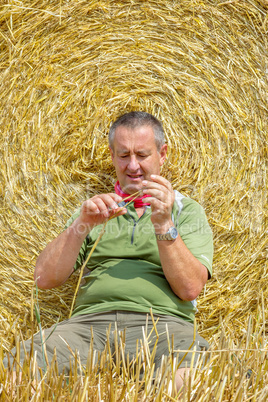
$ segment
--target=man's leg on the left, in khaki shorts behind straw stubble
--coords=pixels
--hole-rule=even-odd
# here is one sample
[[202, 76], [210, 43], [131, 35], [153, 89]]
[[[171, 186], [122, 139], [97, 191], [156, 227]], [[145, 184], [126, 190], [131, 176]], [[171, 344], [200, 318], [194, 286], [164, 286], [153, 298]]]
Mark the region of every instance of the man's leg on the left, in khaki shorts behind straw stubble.
[[[21, 344], [20, 367], [23, 366], [26, 357], [24, 349], [27, 354], [30, 354], [31, 348], [38, 367], [43, 371], [46, 369], [46, 360], [48, 364], [51, 364], [54, 351], [56, 352], [59, 372], [63, 370], [66, 373], [69, 372], [70, 358], [74, 361], [76, 352], [79, 354], [81, 365], [86, 365], [90, 345], [92, 350], [96, 352], [102, 352], [106, 345], [107, 331], [111, 320], [107, 320], [105, 314], [79, 315], [46, 329], [43, 331], [43, 345], [40, 333], [35, 334], [33, 340], [28, 339], [23, 342], [23, 345]], [[13, 348], [9, 354], [9, 359], [5, 357], [3, 361], [4, 366], [8, 367], [8, 360], [10, 360], [14, 371], [16, 371], [17, 358], [14, 358], [16, 352], [16, 348]]]

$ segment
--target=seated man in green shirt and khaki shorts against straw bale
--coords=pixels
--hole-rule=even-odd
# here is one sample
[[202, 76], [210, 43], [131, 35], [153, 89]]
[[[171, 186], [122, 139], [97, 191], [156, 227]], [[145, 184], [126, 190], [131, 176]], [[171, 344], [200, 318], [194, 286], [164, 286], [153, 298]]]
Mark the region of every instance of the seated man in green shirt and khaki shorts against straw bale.
[[[69, 364], [69, 348], [78, 350], [86, 363], [91, 330], [93, 348], [102, 351], [107, 329], [112, 325], [113, 333], [115, 322], [119, 331], [125, 330], [126, 354], [134, 356], [142, 328], [153, 327], [150, 311], [160, 334], [156, 367], [169, 354], [166, 328], [174, 349], [188, 350], [194, 339], [194, 301], [211, 275], [212, 233], [202, 208], [160, 175], [167, 154], [161, 123], [145, 112], [127, 113], [112, 125], [109, 145], [118, 179], [115, 193], [86, 200], [36, 262], [38, 287], [62, 285], [82, 266], [108, 220], [87, 263], [91, 273], [84, 278], [72, 318], [46, 342], [51, 359], [56, 347], [60, 369]], [[123, 201], [137, 192], [134, 202]], [[198, 351], [208, 344], [196, 335], [195, 346]], [[191, 357], [188, 353], [177, 370], [178, 389]]]

